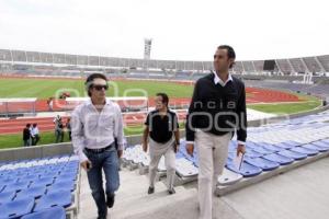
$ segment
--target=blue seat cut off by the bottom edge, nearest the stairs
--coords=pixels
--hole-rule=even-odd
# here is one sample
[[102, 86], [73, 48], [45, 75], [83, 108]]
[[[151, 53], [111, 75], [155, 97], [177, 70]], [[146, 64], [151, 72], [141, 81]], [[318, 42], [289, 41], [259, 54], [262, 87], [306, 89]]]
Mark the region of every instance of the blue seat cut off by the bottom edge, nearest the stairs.
[[65, 209], [56, 206], [23, 216], [21, 219], [66, 219]]

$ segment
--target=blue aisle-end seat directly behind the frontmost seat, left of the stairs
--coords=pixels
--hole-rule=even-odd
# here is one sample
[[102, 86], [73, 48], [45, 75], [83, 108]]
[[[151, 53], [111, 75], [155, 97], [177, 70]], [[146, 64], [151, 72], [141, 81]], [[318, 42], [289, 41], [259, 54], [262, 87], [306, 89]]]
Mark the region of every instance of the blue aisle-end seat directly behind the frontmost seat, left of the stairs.
[[54, 206], [61, 206], [64, 208], [71, 205], [72, 196], [71, 193], [68, 191], [56, 191], [56, 192], [48, 192], [46, 195], [42, 196], [35, 208], [34, 211], [41, 211], [46, 208], [50, 208]]

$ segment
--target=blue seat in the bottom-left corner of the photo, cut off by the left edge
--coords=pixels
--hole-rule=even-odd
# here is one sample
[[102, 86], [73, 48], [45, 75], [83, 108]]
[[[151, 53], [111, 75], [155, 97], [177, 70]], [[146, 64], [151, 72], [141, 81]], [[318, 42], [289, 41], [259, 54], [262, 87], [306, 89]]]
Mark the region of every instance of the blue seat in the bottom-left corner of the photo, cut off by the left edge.
[[32, 211], [34, 198], [21, 198], [0, 206], [0, 219], [20, 218]]

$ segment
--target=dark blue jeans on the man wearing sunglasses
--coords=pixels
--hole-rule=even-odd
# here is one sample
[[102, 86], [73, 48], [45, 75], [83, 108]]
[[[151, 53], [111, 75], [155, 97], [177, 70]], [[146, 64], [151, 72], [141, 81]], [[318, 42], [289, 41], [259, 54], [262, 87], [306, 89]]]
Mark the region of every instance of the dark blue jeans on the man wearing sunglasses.
[[115, 147], [105, 150], [102, 153], [93, 153], [84, 150], [86, 155], [91, 161], [91, 170], [87, 172], [89, 186], [92, 197], [98, 206], [99, 217], [106, 217], [107, 206], [103, 188], [102, 170], [105, 173], [106, 195], [114, 195], [118, 189], [118, 158]]

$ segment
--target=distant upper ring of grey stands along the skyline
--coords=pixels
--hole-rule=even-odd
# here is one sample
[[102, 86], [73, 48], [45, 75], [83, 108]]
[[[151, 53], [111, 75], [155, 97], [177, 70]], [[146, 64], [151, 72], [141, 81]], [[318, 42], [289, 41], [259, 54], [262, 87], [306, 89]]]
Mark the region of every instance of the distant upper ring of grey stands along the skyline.
[[[213, 68], [212, 61], [144, 60], [132, 58], [112, 58], [70, 54], [50, 54], [39, 51], [0, 49], [0, 60], [26, 64], [55, 64], [89, 67], [114, 67], [126, 69], [157, 69], [177, 71], [206, 71]], [[283, 74], [294, 72], [329, 72], [329, 56], [302, 57], [275, 60], [277, 70]], [[237, 61], [232, 71], [254, 73], [263, 70], [264, 60]]]

